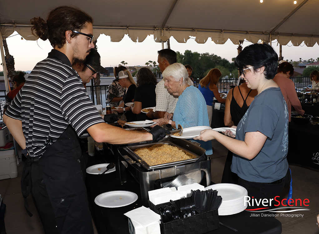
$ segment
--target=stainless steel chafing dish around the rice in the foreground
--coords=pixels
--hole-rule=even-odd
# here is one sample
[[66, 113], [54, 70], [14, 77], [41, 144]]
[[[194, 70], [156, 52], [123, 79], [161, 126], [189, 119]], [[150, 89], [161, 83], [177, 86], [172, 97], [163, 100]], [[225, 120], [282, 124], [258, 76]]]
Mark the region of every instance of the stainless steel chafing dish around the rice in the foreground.
[[[137, 148], [151, 147], [154, 144], [176, 146], [191, 159], [150, 166], [134, 153]], [[127, 171], [132, 174], [140, 184], [144, 206], [148, 206], [148, 191], [169, 185], [179, 175], [188, 177], [190, 180], [187, 180], [187, 183], [201, 183], [202, 181], [205, 182], [205, 185], [211, 183], [211, 159], [205, 154], [205, 149], [189, 140], [169, 137], [164, 142], [126, 146], [119, 148], [118, 151], [123, 157], [122, 164], [125, 165], [120, 167], [121, 180], [126, 178]]]

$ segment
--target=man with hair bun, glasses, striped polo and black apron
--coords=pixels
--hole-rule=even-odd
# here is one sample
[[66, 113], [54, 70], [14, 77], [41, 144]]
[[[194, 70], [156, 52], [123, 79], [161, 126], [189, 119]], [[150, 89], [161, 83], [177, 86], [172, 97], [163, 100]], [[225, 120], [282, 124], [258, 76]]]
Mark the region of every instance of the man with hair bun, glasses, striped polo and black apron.
[[47, 20], [31, 20], [33, 33], [54, 49], [37, 63], [3, 117], [27, 157], [21, 181], [25, 206], [31, 193], [46, 234], [93, 234], [79, 138], [124, 144], [165, 136], [160, 127], [125, 131], [99, 115], [71, 66], [94, 47], [92, 23], [91, 16], [71, 6], [57, 7]]

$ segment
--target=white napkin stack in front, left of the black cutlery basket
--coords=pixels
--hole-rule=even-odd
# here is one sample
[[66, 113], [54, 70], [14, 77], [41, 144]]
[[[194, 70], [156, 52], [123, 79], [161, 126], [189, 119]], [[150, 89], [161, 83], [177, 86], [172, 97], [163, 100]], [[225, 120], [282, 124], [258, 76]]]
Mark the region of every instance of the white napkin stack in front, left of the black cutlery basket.
[[160, 234], [160, 215], [144, 206], [133, 209], [124, 214], [129, 217], [134, 228], [130, 227], [130, 233], [135, 234]]

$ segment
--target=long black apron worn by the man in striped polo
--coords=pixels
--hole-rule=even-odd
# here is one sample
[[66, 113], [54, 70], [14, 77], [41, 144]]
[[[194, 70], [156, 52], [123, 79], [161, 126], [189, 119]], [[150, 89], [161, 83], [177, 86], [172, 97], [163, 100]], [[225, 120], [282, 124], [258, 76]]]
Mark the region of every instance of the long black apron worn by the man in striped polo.
[[93, 233], [80, 159], [79, 138], [69, 125], [40, 159], [28, 159], [25, 164], [24, 172], [31, 172], [31, 195], [47, 234]]

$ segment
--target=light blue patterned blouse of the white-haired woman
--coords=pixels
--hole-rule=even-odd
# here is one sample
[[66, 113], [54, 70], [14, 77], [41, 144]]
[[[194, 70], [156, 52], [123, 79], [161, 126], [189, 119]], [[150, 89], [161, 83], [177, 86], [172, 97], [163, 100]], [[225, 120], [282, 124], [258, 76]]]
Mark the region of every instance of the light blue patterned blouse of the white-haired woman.
[[[187, 87], [176, 103], [173, 121], [183, 128], [209, 126], [207, 106], [203, 94], [194, 86]], [[213, 153], [211, 141], [197, 140], [206, 150], [206, 155]]]

